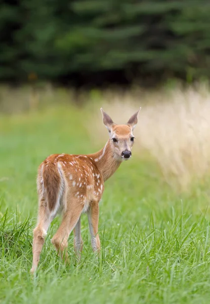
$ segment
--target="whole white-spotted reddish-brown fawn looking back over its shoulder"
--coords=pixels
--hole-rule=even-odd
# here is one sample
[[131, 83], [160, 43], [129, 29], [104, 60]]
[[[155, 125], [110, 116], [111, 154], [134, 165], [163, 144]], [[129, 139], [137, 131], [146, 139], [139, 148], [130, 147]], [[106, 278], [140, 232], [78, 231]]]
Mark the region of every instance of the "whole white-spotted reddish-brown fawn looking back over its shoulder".
[[104, 182], [123, 160], [131, 158], [133, 130], [139, 113], [136, 112], [126, 125], [116, 125], [102, 108], [101, 111], [104, 125], [109, 131], [109, 140], [104, 148], [89, 155], [53, 154], [38, 168], [38, 221], [33, 230], [31, 273], [37, 269], [48, 227], [59, 211], [63, 214], [62, 222], [51, 242], [62, 258], [67, 260], [67, 241], [72, 230], [74, 250], [80, 257], [83, 243], [80, 229], [82, 212], [88, 213], [93, 251], [100, 251], [99, 201]]

